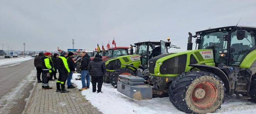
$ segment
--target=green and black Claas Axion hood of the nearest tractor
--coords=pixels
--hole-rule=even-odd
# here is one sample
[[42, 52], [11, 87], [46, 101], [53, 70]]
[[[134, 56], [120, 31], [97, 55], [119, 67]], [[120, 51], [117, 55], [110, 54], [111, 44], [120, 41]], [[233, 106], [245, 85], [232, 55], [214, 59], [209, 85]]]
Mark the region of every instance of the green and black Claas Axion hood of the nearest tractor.
[[200, 49], [158, 55], [148, 61], [148, 70], [152, 76], [175, 77], [189, 71], [190, 64], [215, 66], [213, 51]]

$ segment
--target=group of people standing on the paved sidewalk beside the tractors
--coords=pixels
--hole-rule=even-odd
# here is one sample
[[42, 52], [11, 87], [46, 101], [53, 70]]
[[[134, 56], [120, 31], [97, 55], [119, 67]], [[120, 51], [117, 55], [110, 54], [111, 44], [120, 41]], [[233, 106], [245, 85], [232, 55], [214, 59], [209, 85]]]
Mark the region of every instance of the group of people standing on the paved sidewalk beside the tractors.
[[[76, 73], [76, 61], [73, 59], [72, 52], [62, 51], [61, 54], [52, 55], [50, 52], [39, 53], [38, 57], [34, 59], [34, 65], [37, 70], [37, 82], [42, 83], [43, 89], [52, 89], [49, 86], [49, 80], [57, 80], [56, 92], [67, 93], [65, 89], [65, 83], [67, 81], [67, 88], [75, 88], [73, 83], [71, 83], [73, 73]], [[101, 59], [101, 55], [95, 55], [93, 60], [86, 52], [80, 53], [82, 60], [80, 63], [81, 70], [81, 81], [82, 88], [79, 91], [83, 91], [89, 88], [90, 82], [93, 85], [93, 92], [96, 92], [96, 85], [98, 83], [97, 92], [100, 93], [103, 77], [106, 74], [105, 62]], [[57, 70], [59, 72], [59, 77], [56, 77]], [[42, 74], [42, 80], [40, 76]], [[90, 80], [91, 76], [91, 80]], [[54, 79], [53, 79], [54, 78]]]

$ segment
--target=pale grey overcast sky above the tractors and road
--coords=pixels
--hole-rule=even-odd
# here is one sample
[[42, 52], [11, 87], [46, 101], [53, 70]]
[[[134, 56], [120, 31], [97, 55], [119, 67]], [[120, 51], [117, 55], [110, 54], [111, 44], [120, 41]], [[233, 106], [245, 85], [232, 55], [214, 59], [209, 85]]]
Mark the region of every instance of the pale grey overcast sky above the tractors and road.
[[256, 26], [256, 0], [0, 0], [0, 43], [56, 51], [72, 49], [75, 39], [75, 48], [93, 50], [113, 37], [117, 46], [170, 37], [186, 50], [188, 32], [241, 17], [239, 25]]

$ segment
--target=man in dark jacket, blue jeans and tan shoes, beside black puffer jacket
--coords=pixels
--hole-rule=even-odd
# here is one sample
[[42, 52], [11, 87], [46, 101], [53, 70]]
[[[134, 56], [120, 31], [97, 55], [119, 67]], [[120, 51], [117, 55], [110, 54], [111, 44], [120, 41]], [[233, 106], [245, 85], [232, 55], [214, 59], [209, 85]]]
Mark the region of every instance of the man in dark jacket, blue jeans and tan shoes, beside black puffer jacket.
[[[81, 52], [81, 57], [83, 57], [80, 63], [82, 88], [79, 89], [79, 91], [86, 90], [90, 86], [90, 75], [88, 72], [88, 64], [91, 61], [91, 59], [86, 52]], [[86, 78], [86, 82], [85, 82], [85, 78]]]

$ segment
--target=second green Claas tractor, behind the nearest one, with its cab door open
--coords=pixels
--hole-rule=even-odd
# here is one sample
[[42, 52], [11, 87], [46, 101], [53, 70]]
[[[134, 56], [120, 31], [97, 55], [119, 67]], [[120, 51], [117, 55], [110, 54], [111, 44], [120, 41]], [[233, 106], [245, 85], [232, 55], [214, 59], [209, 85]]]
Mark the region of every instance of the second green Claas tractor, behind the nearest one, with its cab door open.
[[[137, 71], [142, 72], [141, 77], [147, 79], [148, 73], [148, 60], [161, 54], [166, 54], [170, 47], [180, 48], [171, 45], [169, 42], [138, 42], [135, 46], [131, 45], [130, 55], [114, 57], [106, 60], [106, 76], [104, 77], [104, 83], [111, 83], [115, 88], [117, 87], [118, 75], [131, 74], [136, 75]], [[135, 54], [133, 54], [133, 47], [135, 47]], [[147, 75], [148, 74], [148, 75]]]

